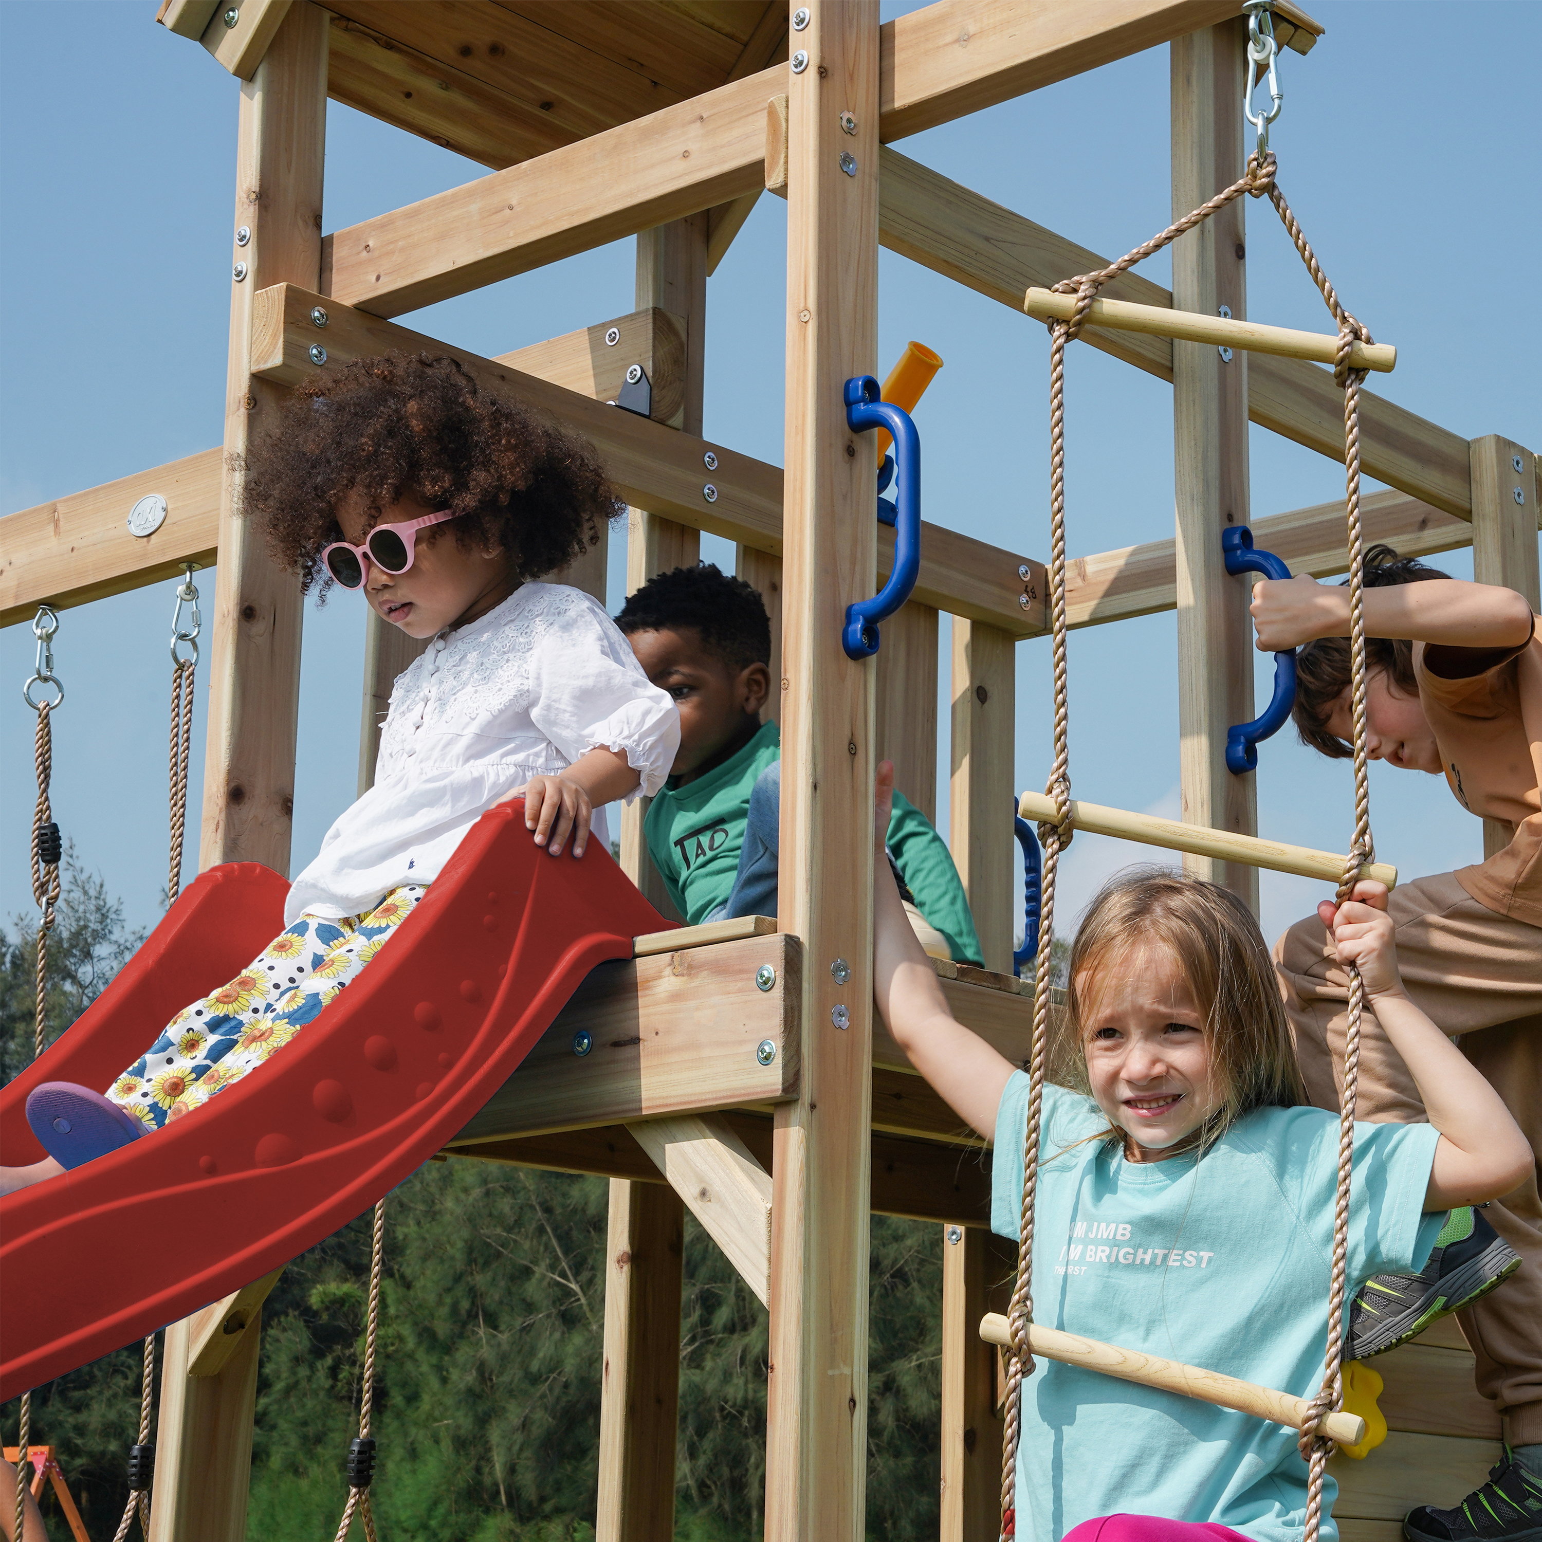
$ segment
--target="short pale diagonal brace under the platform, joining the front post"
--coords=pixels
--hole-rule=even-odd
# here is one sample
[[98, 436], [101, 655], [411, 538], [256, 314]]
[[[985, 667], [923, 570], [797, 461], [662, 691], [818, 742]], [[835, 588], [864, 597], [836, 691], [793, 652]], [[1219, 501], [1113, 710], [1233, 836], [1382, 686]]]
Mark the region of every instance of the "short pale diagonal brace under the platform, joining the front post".
[[[768, 1305], [771, 1175], [732, 1126], [717, 1115], [682, 1115], [628, 1129], [760, 1305]], [[674, 1468], [669, 1471], [672, 1477]]]

